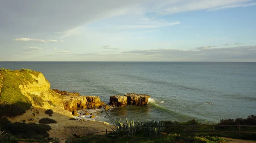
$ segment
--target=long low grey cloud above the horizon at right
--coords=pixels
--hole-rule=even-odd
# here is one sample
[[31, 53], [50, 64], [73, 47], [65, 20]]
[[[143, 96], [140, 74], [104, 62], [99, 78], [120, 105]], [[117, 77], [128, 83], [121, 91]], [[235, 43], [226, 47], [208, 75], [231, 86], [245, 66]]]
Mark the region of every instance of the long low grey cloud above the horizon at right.
[[252, 46], [237, 46], [231, 48], [212, 48], [202, 46], [193, 48], [193, 50], [178, 50], [178, 49], [151, 49], [151, 50], [130, 50], [122, 53], [141, 55], [141, 56], [158, 56], [166, 59], [199, 59], [210, 61], [223, 61], [223, 60], [251, 60], [255, 61], [256, 45]]

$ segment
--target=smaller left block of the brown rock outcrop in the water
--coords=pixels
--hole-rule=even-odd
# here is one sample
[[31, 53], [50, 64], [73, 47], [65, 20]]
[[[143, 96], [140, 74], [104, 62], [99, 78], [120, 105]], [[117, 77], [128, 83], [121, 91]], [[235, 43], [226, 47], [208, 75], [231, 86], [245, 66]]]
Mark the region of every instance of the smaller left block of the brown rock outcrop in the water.
[[124, 95], [110, 96], [109, 103], [112, 107], [124, 107], [127, 105], [127, 97]]

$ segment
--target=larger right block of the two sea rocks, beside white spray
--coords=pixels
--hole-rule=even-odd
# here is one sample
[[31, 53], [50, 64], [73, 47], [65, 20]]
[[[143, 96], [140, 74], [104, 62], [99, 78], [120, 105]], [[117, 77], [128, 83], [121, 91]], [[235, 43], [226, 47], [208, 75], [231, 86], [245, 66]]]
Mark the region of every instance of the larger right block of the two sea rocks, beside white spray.
[[145, 105], [148, 104], [148, 98], [150, 98], [150, 95], [136, 93], [127, 93], [125, 96], [128, 105]]

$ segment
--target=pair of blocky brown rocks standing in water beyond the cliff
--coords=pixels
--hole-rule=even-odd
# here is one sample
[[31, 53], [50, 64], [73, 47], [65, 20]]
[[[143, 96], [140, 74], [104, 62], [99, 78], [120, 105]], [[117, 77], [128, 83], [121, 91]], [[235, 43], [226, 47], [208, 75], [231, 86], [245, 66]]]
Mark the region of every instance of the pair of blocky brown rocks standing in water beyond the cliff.
[[112, 107], [123, 107], [125, 105], [145, 105], [148, 104], [150, 95], [127, 93], [125, 95], [112, 95], [109, 102]]

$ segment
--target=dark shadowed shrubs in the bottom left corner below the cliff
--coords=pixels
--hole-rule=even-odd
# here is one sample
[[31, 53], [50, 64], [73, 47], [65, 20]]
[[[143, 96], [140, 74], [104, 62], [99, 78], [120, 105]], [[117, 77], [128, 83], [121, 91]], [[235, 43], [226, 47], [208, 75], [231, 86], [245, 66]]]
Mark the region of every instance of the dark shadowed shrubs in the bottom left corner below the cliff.
[[42, 142], [46, 141], [45, 138], [49, 137], [47, 131], [51, 130], [51, 127], [46, 124], [11, 123], [7, 118], [0, 118], [0, 127], [2, 131], [8, 131], [19, 139], [33, 139]]

